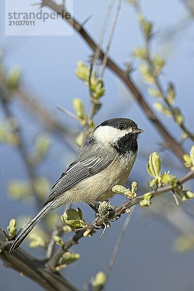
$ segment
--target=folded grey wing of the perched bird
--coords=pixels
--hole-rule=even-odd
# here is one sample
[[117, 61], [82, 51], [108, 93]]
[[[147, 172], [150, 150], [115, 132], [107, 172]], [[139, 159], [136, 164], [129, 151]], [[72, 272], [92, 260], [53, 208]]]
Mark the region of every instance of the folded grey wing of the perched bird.
[[84, 161], [73, 162], [61, 175], [61, 177], [52, 186], [52, 193], [47, 198], [44, 206], [55, 199], [60, 194], [63, 194], [66, 190], [73, 187], [81, 180], [91, 177], [105, 168], [107, 168], [113, 162], [114, 156], [107, 159], [107, 157], [91, 157]]

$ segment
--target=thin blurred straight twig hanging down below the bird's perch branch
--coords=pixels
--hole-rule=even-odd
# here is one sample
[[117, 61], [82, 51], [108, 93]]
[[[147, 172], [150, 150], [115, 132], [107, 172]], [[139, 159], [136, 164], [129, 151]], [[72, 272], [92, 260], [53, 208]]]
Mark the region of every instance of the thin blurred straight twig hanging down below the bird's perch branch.
[[108, 267], [108, 272], [106, 274], [106, 283], [113, 271], [113, 266], [114, 266], [114, 263], [115, 263], [115, 260], [116, 260], [116, 256], [117, 256], [117, 253], [119, 251], [119, 248], [121, 246], [121, 243], [123, 241], [123, 238], [124, 238], [124, 235], [125, 235], [125, 232], [129, 226], [129, 222], [131, 220], [131, 215], [133, 214], [133, 211], [135, 210], [135, 206], [131, 209], [130, 213], [127, 215], [126, 219], [125, 219], [125, 222], [123, 224], [123, 227], [121, 229], [121, 232], [118, 236], [118, 239], [115, 243], [115, 246], [114, 246], [114, 249], [113, 249], [113, 253], [112, 253], [112, 256], [111, 256], [111, 259], [110, 259], [110, 262], [109, 262], [109, 267]]

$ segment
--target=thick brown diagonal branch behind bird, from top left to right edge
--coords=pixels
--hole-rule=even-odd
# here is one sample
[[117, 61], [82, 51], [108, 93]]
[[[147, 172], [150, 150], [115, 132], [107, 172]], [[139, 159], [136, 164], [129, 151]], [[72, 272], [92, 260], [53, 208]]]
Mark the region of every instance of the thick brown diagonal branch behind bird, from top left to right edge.
[[[63, 5], [57, 5], [54, 1], [52, 0], [42, 0], [42, 7], [43, 6], [48, 6], [55, 12], [61, 13], [62, 9], [64, 9]], [[80, 33], [82, 38], [85, 40], [85, 42], [90, 46], [90, 48], [93, 51], [96, 51], [97, 49], [97, 44], [94, 42], [92, 37], [89, 35], [88, 32], [86, 32], [83, 27], [80, 25], [80, 23], [74, 19], [66, 19], [63, 18], [63, 20], [67, 21], [70, 25], [73, 26], [73, 28]], [[99, 58], [102, 60], [104, 57], [104, 53], [102, 50], [99, 51]], [[170, 133], [165, 129], [165, 127], [162, 125], [162, 123], [159, 121], [157, 116], [152, 112], [151, 108], [148, 106], [146, 103], [145, 99], [135, 86], [135, 84], [131, 81], [129, 77], [129, 73], [122, 70], [118, 65], [116, 65], [110, 58], [107, 58], [107, 64], [106, 64], [116, 75], [119, 77], [127, 86], [129, 91], [132, 93], [134, 99], [139, 103], [140, 107], [143, 109], [143, 111], [146, 113], [147, 118], [154, 124], [156, 129], [159, 131], [159, 133], [162, 135], [164, 138], [167, 146], [171, 148], [172, 151], [176, 154], [178, 159], [183, 162], [183, 149], [182, 147], [176, 142], [176, 140], [170, 135]]]

